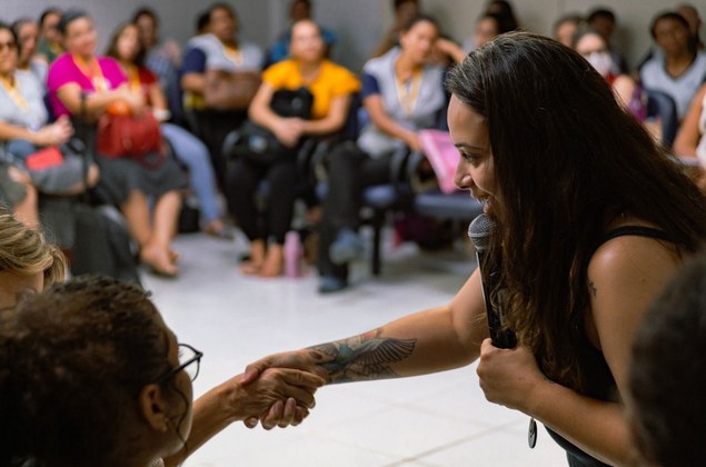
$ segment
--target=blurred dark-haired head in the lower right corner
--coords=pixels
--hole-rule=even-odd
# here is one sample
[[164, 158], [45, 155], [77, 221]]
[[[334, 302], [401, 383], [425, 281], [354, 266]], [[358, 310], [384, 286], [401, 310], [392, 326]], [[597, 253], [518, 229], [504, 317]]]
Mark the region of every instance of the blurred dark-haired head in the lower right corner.
[[704, 466], [706, 251], [646, 312], [633, 344], [628, 414], [639, 466]]

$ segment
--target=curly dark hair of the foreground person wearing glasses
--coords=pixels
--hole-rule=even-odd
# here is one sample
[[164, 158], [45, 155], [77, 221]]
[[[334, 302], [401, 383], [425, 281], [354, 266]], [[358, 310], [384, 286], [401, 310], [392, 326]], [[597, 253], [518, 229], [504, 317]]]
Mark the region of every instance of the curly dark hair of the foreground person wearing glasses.
[[0, 465], [106, 465], [141, 388], [171, 367], [168, 339], [149, 294], [109, 278], [79, 277], [3, 311]]

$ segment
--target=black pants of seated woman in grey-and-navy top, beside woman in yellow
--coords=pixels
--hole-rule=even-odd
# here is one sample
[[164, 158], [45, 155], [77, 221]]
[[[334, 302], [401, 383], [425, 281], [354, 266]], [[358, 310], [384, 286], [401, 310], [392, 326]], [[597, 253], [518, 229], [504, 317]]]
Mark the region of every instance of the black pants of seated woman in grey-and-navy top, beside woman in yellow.
[[338, 146], [329, 156], [328, 190], [324, 199], [318, 268], [321, 276], [348, 278], [348, 265], [335, 265], [328, 250], [344, 228], [360, 225], [362, 191], [390, 181], [390, 157], [372, 159], [354, 143]]

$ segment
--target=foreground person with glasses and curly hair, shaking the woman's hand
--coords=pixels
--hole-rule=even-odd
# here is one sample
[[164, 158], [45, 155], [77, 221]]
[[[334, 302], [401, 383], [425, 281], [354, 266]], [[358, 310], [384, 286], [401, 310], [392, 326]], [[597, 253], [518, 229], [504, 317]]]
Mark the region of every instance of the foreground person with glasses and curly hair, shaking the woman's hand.
[[0, 465], [179, 465], [275, 403], [280, 426], [297, 425], [324, 382], [277, 370], [243, 387], [236, 376], [192, 403], [202, 356], [149, 292], [115, 279], [74, 278], [0, 311]]

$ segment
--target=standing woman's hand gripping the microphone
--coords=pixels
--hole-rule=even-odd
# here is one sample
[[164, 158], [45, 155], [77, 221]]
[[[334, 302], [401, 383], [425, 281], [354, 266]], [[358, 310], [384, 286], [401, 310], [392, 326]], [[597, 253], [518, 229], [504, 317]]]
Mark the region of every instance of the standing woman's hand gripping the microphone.
[[527, 415], [531, 415], [531, 395], [547, 381], [527, 347], [499, 349], [490, 339], [485, 339], [480, 346], [476, 372], [486, 399]]

